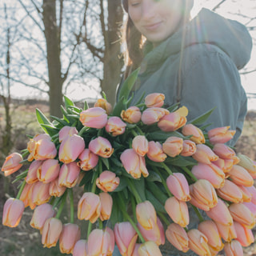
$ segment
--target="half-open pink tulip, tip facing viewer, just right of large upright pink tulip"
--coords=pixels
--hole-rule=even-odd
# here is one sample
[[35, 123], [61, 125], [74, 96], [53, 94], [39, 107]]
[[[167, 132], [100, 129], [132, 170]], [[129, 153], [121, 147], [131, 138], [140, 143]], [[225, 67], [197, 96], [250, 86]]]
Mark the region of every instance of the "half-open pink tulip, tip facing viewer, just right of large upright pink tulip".
[[114, 152], [110, 142], [101, 136], [90, 141], [89, 150], [102, 158], [110, 158], [111, 154]]

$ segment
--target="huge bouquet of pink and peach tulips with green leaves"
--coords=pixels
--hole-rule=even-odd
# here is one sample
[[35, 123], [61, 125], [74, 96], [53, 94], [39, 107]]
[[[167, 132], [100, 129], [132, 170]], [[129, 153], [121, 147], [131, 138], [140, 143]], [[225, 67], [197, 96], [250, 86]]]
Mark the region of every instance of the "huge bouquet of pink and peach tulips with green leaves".
[[[122, 255], [158, 256], [167, 239], [182, 252], [242, 255], [254, 242], [256, 163], [226, 146], [230, 127], [205, 132], [211, 111], [188, 122], [185, 106], [165, 108], [158, 93], [130, 106], [137, 74], [113, 109], [106, 97], [83, 109], [64, 97], [63, 118], [50, 122], [36, 110], [44, 132], [2, 166], [6, 176], [27, 166], [15, 179], [17, 198], [5, 203], [3, 225], [18, 226], [29, 206], [42, 245], [58, 242], [63, 254], [112, 255], [116, 245]], [[88, 221], [86, 234], [74, 223], [75, 186], [83, 189], [76, 212]], [[191, 211], [198, 216], [192, 229]]]

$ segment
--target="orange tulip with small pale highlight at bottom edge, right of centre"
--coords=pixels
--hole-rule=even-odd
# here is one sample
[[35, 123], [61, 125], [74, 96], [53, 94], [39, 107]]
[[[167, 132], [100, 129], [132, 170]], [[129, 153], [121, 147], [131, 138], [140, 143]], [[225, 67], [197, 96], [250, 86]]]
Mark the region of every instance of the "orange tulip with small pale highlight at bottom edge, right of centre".
[[208, 239], [206, 235], [202, 234], [199, 230], [189, 230], [187, 232], [189, 237], [189, 247], [198, 255], [210, 256], [210, 248], [207, 244]]

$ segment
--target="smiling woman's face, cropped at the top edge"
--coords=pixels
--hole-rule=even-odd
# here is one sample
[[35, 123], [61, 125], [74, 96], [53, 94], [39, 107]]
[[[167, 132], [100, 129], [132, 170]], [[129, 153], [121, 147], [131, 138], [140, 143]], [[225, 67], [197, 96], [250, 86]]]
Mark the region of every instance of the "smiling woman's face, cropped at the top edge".
[[184, 8], [182, 0], [128, 0], [128, 14], [134, 26], [154, 46], [174, 34]]

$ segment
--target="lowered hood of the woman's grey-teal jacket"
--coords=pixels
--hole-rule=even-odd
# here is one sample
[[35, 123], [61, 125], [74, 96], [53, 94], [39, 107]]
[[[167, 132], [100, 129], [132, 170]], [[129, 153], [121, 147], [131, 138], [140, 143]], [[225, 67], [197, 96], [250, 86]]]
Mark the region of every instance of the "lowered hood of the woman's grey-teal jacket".
[[252, 39], [246, 26], [202, 9], [186, 26], [146, 54], [145, 61], [149, 68], [154, 68], [170, 55], [178, 54], [182, 48], [199, 43], [218, 46], [233, 60], [238, 70], [250, 60]]

